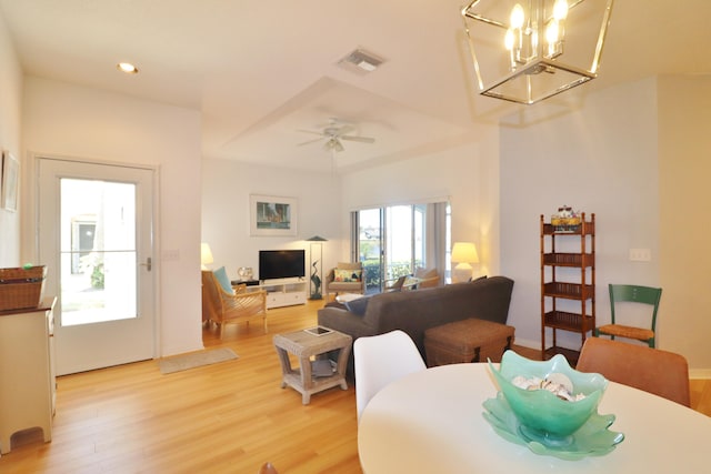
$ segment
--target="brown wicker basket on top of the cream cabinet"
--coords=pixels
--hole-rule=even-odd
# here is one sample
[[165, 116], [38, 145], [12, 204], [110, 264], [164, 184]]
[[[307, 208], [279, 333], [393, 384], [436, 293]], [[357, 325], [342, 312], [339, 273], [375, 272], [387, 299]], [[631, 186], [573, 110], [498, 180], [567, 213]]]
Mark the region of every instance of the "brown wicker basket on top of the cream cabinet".
[[0, 269], [0, 311], [37, 307], [44, 293], [44, 265]]

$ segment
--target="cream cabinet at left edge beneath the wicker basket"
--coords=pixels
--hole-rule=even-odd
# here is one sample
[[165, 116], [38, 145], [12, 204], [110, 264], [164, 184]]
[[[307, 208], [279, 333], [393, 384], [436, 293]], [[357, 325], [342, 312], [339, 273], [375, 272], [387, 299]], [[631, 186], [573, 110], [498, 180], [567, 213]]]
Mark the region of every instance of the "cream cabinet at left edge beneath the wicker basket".
[[56, 403], [53, 360], [54, 299], [30, 310], [0, 312], [0, 452], [10, 452], [10, 437], [41, 428], [52, 440]]

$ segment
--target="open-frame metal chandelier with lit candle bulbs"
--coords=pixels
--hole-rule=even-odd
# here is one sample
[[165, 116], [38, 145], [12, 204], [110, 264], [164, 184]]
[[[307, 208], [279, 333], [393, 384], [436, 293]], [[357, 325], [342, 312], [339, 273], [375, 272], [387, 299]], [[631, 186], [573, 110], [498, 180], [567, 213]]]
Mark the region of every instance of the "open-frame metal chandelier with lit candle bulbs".
[[461, 10], [480, 93], [532, 104], [598, 75], [613, 0], [474, 0]]

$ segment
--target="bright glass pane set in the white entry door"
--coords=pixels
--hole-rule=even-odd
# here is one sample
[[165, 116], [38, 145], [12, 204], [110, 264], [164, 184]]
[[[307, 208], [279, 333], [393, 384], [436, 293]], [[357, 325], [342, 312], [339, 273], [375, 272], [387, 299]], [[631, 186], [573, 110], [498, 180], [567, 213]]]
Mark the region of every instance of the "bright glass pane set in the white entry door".
[[60, 180], [61, 324], [137, 317], [136, 185]]

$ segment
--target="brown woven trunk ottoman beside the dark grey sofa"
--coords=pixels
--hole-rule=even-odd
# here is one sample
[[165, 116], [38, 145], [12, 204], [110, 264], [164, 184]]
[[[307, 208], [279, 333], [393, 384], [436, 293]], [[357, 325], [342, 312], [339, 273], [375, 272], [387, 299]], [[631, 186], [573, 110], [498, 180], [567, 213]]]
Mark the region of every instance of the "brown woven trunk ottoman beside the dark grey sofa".
[[491, 321], [471, 319], [424, 331], [427, 365], [461, 362], [501, 362], [513, 343], [514, 327]]

